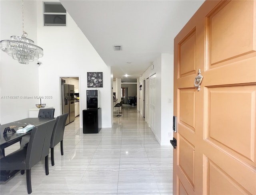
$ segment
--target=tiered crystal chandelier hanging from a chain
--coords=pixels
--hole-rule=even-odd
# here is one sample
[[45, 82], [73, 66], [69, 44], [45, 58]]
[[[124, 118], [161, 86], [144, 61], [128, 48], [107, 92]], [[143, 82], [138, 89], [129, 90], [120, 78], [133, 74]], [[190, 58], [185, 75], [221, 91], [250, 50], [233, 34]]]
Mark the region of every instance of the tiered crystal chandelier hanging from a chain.
[[22, 0], [22, 36], [11, 36], [11, 40], [0, 41], [0, 49], [18, 60], [21, 64], [28, 64], [40, 57], [43, 57], [43, 49], [34, 45], [34, 41], [26, 38], [28, 33], [24, 31], [24, 15]]

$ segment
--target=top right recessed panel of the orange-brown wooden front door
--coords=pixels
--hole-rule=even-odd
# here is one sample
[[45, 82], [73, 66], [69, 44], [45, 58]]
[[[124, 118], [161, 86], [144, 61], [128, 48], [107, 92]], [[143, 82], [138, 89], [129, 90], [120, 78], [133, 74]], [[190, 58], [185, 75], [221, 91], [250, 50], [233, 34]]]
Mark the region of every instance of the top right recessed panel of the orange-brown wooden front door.
[[[255, 1], [223, 1], [207, 16], [210, 65], [255, 52]], [[230, 12], [232, 10], [232, 12]], [[241, 10], [246, 10], [242, 12]]]

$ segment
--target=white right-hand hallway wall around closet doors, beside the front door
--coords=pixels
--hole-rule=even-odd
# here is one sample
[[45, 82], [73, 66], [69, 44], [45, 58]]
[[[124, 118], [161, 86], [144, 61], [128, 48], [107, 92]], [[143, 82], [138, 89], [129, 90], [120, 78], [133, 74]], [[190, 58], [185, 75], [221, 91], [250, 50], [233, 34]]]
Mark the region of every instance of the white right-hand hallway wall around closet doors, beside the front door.
[[[173, 115], [173, 55], [161, 54], [140, 77], [143, 80], [156, 73], [156, 127], [155, 136], [161, 146], [170, 146]], [[143, 85], [142, 85], [143, 86]], [[143, 115], [143, 89], [140, 91], [140, 114]], [[171, 103], [168, 99], [171, 99]]]

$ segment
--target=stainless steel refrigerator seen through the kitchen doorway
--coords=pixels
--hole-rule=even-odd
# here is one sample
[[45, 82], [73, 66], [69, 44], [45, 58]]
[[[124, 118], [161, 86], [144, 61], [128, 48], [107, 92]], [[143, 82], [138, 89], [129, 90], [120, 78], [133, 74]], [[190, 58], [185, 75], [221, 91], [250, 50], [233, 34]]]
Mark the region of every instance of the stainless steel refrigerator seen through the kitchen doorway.
[[74, 85], [62, 83], [62, 114], [69, 113], [66, 124], [75, 120]]

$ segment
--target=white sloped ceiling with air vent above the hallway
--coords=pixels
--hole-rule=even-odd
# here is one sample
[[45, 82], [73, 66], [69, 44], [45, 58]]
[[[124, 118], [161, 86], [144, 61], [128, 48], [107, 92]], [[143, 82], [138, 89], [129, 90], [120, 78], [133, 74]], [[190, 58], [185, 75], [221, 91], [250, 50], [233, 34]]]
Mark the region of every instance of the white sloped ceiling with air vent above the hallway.
[[[138, 78], [173, 40], [203, 0], [60, 0], [114, 78]], [[122, 45], [114, 51], [113, 45]], [[131, 63], [126, 63], [130, 61]]]

